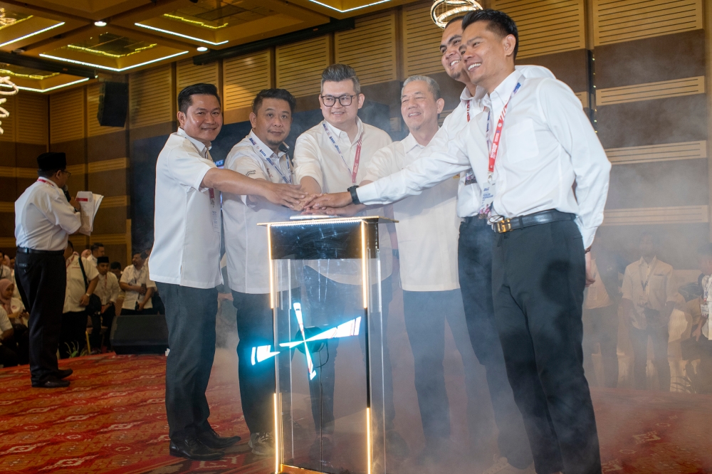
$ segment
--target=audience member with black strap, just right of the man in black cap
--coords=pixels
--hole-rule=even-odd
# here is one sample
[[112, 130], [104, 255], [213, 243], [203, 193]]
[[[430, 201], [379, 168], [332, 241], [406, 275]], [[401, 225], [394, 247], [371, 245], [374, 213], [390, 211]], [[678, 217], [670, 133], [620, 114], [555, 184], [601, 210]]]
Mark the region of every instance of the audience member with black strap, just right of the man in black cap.
[[67, 265], [67, 290], [59, 337], [61, 359], [80, 355], [86, 345], [86, 306], [99, 281], [96, 267], [74, 251], [71, 241], [67, 241], [64, 258]]

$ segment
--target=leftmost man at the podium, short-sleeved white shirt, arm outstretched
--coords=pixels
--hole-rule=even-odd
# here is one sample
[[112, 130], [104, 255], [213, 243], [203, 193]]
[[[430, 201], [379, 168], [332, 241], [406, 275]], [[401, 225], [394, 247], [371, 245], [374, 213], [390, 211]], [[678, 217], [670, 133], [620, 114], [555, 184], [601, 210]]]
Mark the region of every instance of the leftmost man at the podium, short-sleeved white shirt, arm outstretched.
[[220, 192], [262, 196], [295, 206], [305, 194], [295, 186], [250, 179], [219, 169], [211, 142], [222, 127], [217, 88], [194, 84], [178, 95], [179, 129], [156, 162], [155, 239], [150, 279], [166, 307], [170, 352], [166, 362], [169, 452], [215, 460], [239, 436], [221, 438], [208, 422], [205, 398], [215, 354], [220, 273]]

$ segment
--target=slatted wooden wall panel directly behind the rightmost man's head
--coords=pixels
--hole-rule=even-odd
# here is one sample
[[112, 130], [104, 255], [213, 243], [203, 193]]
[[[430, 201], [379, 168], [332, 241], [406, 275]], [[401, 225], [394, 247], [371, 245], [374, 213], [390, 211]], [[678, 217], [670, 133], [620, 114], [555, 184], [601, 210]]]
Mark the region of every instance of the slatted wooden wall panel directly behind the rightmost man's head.
[[584, 0], [494, 0], [517, 22], [518, 58], [586, 47]]

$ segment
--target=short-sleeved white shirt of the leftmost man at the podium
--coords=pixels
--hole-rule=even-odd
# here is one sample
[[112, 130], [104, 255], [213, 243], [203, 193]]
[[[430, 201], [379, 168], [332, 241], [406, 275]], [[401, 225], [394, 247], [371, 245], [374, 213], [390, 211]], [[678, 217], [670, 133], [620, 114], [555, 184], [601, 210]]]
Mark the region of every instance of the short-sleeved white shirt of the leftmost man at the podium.
[[158, 155], [152, 280], [192, 288], [221, 285], [220, 192], [201, 186], [211, 168], [207, 147], [182, 128]]

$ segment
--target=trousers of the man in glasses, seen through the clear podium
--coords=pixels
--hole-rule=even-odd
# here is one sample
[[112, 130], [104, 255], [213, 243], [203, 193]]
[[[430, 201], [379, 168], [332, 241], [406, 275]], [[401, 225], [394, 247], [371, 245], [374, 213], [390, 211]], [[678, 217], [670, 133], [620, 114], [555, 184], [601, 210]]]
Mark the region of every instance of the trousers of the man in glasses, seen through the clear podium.
[[[360, 290], [357, 293], [354, 292], [355, 285], [337, 283], [310, 267], [304, 267], [304, 285], [311, 312], [310, 323], [307, 324], [325, 328], [334, 327], [345, 322], [346, 318], [343, 318], [343, 315], [346, 311], [355, 308], [358, 308], [360, 312], [359, 314], [354, 313], [354, 317], [363, 315], [362, 295]], [[385, 335], [388, 332], [388, 305], [393, 299], [390, 277], [382, 281], [381, 288], [382, 331]], [[359, 331], [362, 351], [365, 350], [364, 327], [365, 320], [362, 318]], [[316, 370], [317, 375], [309, 381], [309, 391], [314, 424], [317, 427], [317, 433], [320, 434], [334, 433], [335, 361], [338, 347], [339, 339], [329, 339], [326, 341], [325, 349], [320, 350], [317, 354], [312, 354], [314, 366], [318, 369]], [[393, 404], [391, 359], [387, 344], [383, 344], [382, 357], [385, 428], [389, 430], [394, 428], [395, 407]]]

